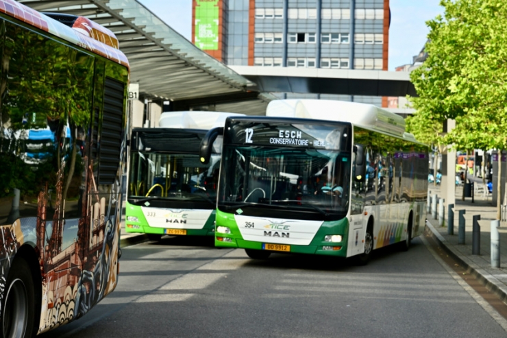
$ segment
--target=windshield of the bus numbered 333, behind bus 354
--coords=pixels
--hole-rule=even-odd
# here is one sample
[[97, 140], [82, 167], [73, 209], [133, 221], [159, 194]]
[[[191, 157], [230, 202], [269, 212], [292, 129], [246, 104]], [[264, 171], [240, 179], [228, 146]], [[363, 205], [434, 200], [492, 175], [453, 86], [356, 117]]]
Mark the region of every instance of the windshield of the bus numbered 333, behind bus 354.
[[[215, 207], [220, 155], [212, 154], [208, 165], [197, 154], [132, 152], [129, 196], [132, 204], [177, 208]], [[178, 205], [175, 205], [178, 204]]]

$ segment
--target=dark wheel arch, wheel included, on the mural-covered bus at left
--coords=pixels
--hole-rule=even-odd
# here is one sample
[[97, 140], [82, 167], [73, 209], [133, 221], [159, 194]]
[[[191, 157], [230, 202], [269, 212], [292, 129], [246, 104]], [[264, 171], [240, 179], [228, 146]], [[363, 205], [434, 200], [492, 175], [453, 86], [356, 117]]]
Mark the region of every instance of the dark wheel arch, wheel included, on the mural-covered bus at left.
[[1, 302], [0, 337], [32, 337], [38, 332], [42, 282], [36, 256], [30, 245], [14, 256]]

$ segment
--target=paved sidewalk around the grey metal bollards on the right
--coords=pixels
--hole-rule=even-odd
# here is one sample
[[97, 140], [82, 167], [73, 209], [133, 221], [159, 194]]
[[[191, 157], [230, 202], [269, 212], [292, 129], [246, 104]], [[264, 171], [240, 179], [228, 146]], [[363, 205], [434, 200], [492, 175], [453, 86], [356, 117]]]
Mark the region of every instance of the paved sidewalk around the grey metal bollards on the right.
[[[441, 196], [440, 186], [430, 184], [430, 195]], [[438, 198], [441, 198], [441, 197]], [[458, 244], [458, 210], [465, 209], [465, 244]], [[507, 302], [507, 223], [500, 222], [500, 267], [491, 267], [491, 221], [497, 219], [497, 208], [491, 204], [491, 194], [484, 197], [483, 193], [475, 193], [474, 202], [471, 197], [462, 201], [462, 186], [456, 186], [456, 204], [454, 206], [454, 234], [447, 234], [447, 208], [445, 208], [445, 224], [438, 224], [428, 213], [426, 226], [447, 252], [454, 256], [470, 274], [476, 276], [488, 289]], [[480, 215], [480, 254], [472, 254], [472, 217]]]

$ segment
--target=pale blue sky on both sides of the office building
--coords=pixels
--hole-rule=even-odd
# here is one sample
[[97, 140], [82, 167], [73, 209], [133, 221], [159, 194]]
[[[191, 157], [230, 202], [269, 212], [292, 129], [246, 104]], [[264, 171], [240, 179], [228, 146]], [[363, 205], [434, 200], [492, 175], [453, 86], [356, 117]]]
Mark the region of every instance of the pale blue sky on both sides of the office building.
[[[162, 21], [191, 40], [192, 0], [138, 0]], [[443, 14], [440, 0], [390, 0], [391, 27], [389, 28], [390, 71], [412, 63], [412, 56], [421, 51], [429, 32], [425, 22]]]

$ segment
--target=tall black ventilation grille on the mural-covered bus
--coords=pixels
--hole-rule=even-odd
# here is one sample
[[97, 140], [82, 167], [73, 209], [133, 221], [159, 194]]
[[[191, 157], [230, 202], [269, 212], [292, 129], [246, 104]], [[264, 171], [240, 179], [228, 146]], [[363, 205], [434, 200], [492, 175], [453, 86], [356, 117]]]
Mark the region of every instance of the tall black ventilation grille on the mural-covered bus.
[[99, 184], [113, 184], [120, 166], [125, 85], [106, 77], [99, 149]]

